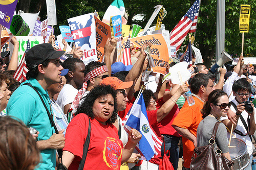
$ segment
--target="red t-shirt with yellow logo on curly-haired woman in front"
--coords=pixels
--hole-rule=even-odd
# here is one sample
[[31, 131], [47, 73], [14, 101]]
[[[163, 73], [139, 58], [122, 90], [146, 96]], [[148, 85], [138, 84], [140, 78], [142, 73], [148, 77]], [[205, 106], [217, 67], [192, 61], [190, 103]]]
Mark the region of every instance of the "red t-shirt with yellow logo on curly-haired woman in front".
[[[91, 138], [83, 169], [120, 169], [123, 143], [114, 125], [102, 125], [91, 119]], [[75, 158], [69, 169], [78, 169], [82, 159], [83, 144], [86, 141], [89, 118], [86, 114], [76, 115], [70, 122], [63, 151], [69, 151]]]

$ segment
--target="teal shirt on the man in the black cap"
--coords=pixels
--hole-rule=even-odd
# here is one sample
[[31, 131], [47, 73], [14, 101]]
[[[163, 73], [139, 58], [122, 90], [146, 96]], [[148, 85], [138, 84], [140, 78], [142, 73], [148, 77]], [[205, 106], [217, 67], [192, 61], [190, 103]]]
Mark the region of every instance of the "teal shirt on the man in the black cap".
[[[44, 90], [36, 79], [30, 78], [24, 83], [30, 83], [42, 96], [50, 111], [50, 98], [48, 92]], [[38, 94], [34, 89], [22, 83], [11, 95], [7, 104], [7, 115], [14, 116], [22, 120], [28, 127], [33, 127], [39, 131], [38, 140], [47, 140], [55, 132], [50, 123], [47, 111], [42, 104]], [[22, 144], [22, 143], [21, 143]], [[41, 162], [36, 169], [55, 169], [55, 150], [47, 149], [40, 151]]]

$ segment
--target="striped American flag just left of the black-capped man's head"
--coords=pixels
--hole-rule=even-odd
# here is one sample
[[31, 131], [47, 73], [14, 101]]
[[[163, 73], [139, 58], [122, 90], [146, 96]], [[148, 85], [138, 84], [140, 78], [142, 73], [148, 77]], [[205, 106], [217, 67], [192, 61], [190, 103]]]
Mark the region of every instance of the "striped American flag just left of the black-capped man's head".
[[27, 65], [26, 65], [26, 61], [25, 61], [25, 56], [27, 54], [27, 52], [29, 51], [30, 49], [30, 43], [29, 43], [29, 40], [28, 40], [28, 43], [27, 43], [27, 49], [22, 57], [22, 61], [20, 61], [20, 64], [17, 68], [17, 70], [15, 71], [14, 75], [13, 75], [13, 79], [17, 80], [18, 82], [22, 83], [22, 82], [25, 82], [27, 79], [26, 79], [26, 74], [28, 72], [28, 68], [27, 68]]

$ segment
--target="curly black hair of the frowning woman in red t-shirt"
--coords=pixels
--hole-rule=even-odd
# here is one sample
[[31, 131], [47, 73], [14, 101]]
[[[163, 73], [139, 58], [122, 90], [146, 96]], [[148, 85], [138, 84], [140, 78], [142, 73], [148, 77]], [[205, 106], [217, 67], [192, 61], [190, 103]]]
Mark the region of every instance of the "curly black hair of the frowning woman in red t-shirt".
[[117, 119], [117, 103], [116, 103], [116, 90], [111, 85], [98, 85], [94, 87], [90, 93], [86, 95], [84, 101], [78, 106], [75, 115], [79, 113], [87, 114], [89, 117], [94, 118], [93, 105], [96, 99], [101, 98], [107, 94], [111, 94], [114, 100], [114, 111], [110, 119], [106, 120], [106, 123], [113, 124]]

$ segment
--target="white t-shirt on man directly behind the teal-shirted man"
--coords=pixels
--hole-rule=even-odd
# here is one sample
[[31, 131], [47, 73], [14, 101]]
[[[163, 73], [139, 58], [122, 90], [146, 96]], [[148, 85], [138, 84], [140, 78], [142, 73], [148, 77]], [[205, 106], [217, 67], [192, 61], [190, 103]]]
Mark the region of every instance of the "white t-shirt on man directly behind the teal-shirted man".
[[60, 106], [60, 108], [64, 112], [64, 106], [67, 104], [70, 104], [74, 101], [76, 94], [78, 93], [78, 90], [74, 88], [70, 84], [65, 84], [61, 91], [59, 92], [58, 98], [57, 98], [57, 104]]

